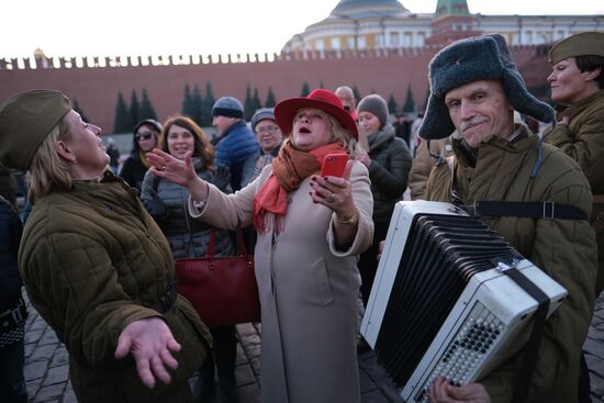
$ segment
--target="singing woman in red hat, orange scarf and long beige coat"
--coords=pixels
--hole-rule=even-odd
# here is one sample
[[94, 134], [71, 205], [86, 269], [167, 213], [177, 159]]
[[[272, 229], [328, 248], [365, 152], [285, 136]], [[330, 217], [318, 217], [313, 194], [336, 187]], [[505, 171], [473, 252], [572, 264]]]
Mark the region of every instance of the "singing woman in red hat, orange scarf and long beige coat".
[[275, 108], [287, 139], [260, 176], [224, 194], [161, 150], [156, 175], [186, 186], [192, 216], [227, 230], [254, 223], [261, 303], [261, 401], [360, 402], [356, 358], [357, 257], [373, 234], [367, 168], [348, 160], [322, 176], [328, 154], [354, 155], [357, 126], [331, 91], [316, 89]]

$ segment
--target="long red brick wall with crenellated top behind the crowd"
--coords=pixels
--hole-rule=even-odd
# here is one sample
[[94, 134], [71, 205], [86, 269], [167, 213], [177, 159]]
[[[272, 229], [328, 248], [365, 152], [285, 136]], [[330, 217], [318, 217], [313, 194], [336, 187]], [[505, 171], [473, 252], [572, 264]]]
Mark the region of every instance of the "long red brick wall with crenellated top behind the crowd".
[[[138, 100], [142, 90], [146, 89], [158, 117], [165, 120], [180, 112], [187, 83], [191, 90], [198, 83], [203, 97], [208, 81], [216, 99], [230, 94], [243, 102], [246, 87], [249, 86], [251, 90], [258, 89], [260, 101], [264, 102], [271, 86], [279, 101], [299, 97], [302, 83], [306, 81], [311, 89], [321, 82], [327, 89], [340, 85], [356, 86], [361, 96], [376, 91], [387, 100], [393, 93], [400, 107], [405, 102], [407, 86], [411, 85], [415, 104], [421, 108], [427, 91], [427, 65], [438, 49], [425, 47], [278, 54], [272, 61], [264, 61], [266, 55], [260, 58], [256, 55], [237, 56], [236, 60], [230, 60], [231, 56], [228, 59], [214, 60], [208, 56], [198, 56], [197, 60], [192, 58], [193, 64], [181, 64], [181, 59], [176, 58], [157, 59], [161, 63], [158, 66], [148, 65], [148, 58], [138, 58], [133, 63], [132, 60], [120, 58], [79, 60], [85, 67], [71, 67], [76, 66], [75, 59], [38, 58], [38, 66], [31, 68], [29, 59], [0, 59], [0, 101], [27, 89], [59, 89], [68, 97], [75, 97], [90, 122], [103, 127], [104, 133], [113, 130], [119, 91], [130, 103], [133, 89]], [[525, 74], [523, 66], [527, 66], [527, 72], [530, 72], [534, 81], [539, 81], [527, 82], [529, 86], [546, 83], [548, 71], [536, 75], [534, 68], [536, 65], [541, 68], [547, 66], [543, 49], [539, 52], [536, 46], [519, 46], [512, 52], [521, 72]], [[43, 64], [48, 66], [44, 68]], [[88, 67], [99, 64], [105, 67]]]

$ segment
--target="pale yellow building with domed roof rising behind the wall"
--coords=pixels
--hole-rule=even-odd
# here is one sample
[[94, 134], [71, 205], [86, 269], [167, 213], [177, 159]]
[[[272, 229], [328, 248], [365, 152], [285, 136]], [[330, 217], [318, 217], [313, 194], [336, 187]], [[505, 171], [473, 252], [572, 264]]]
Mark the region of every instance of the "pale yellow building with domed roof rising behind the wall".
[[583, 31], [604, 31], [604, 15], [483, 15], [470, 13], [466, 0], [438, 0], [434, 13], [414, 13], [396, 0], [340, 0], [283, 52], [443, 46], [481, 33], [500, 33], [511, 46], [541, 45]]

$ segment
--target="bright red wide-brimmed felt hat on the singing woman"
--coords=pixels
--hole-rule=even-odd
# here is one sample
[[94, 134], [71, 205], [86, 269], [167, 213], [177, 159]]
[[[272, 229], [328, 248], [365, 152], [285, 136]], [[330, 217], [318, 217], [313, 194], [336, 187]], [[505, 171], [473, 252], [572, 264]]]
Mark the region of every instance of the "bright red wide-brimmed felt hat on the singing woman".
[[290, 135], [295, 113], [302, 108], [316, 108], [334, 116], [350, 134], [358, 139], [357, 124], [350, 113], [344, 109], [342, 101], [335, 93], [317, 88], [306, 98], [290, 98], [275, 107], [275, 121], [286, 135]]

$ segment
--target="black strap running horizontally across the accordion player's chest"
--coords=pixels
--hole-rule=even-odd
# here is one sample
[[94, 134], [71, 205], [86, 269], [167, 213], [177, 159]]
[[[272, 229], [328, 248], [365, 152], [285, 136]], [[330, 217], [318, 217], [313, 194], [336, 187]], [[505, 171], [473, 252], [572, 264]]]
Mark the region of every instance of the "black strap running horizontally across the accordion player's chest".
[[510, 202], [510, 201], [476, 201], [466, 209], [473, 215], [481, 216], [516, 216], [545, 220], [582, 220], [588, 221], [588, 214], [574, 205], [544, 202]]

